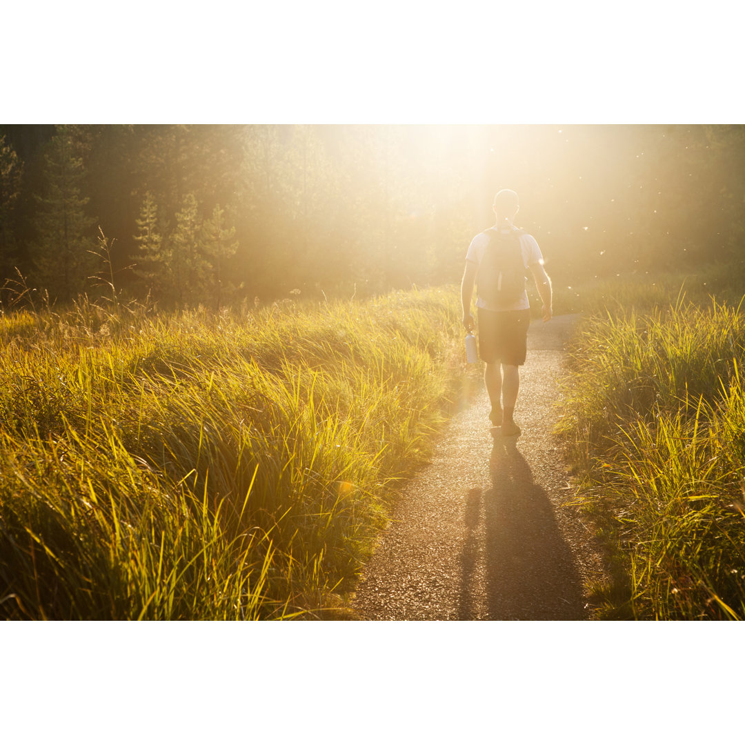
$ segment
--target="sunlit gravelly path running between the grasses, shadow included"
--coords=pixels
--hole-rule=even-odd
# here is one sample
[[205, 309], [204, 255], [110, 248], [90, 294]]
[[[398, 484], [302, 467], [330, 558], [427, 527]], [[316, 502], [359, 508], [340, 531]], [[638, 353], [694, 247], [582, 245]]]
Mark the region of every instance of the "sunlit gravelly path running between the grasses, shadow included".
[[580, 620], [603, 576], [551, 434], [574, 316], [531, 324], [515, 419], [492, 437], [481, 381], [403, 492], [358, 584], [361, 620]]

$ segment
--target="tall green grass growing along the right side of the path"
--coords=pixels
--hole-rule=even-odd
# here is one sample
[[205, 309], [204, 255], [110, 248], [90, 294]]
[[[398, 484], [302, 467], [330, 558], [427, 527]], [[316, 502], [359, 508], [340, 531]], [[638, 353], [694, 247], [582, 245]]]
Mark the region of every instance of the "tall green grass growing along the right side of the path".
[[589, 317], [564, 383], [580, 501], [618, 548], [601, 615], [745, 618], [745, 317], [646, 307]]

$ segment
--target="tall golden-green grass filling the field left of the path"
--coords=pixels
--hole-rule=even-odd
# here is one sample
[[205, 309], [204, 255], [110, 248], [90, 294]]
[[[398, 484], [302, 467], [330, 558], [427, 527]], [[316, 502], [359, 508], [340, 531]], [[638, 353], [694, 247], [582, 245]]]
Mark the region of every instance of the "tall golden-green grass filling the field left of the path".
[[0, 317], [0, 616], [315, 618], [427, 457], [456, 291]]

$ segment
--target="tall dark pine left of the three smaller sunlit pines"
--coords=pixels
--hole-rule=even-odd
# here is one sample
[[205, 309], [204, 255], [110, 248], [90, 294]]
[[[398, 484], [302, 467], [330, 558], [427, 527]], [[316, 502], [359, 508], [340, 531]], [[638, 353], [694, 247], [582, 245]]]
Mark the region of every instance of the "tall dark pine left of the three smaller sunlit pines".
[[86, 215], [89, 197], [80, 194], [85, 172], [76, 154], [74, 131], [57, 126], [44, 155], [44, 194], [37, 196], [37, 279], [50, 294], [69, 300], [86, 287], [95, 269], [95, 219]]

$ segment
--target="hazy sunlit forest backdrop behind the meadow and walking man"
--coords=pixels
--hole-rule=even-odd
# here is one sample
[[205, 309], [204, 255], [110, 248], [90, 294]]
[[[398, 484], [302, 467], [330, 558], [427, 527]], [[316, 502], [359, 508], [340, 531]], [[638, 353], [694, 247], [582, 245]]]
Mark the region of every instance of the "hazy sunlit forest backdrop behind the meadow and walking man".
[[1, 279], [216, 308], [442, 285], [500, 188], [554, 278], [739, 261], [745, 128], [0, 125]]

